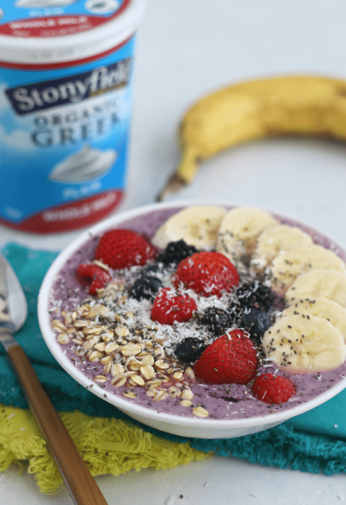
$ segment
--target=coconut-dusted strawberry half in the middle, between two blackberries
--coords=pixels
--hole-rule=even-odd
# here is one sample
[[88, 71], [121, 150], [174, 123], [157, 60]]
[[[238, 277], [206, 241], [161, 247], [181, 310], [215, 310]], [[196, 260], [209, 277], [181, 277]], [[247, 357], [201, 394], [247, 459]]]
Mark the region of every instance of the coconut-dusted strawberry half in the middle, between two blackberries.
[[221, 252], [202, 251], [181, 260], [174, 276], [174, 285], [180, 283], [197, 294], [221, 296], [221, 291], [232, 291], [239, 283], [235, 266]]

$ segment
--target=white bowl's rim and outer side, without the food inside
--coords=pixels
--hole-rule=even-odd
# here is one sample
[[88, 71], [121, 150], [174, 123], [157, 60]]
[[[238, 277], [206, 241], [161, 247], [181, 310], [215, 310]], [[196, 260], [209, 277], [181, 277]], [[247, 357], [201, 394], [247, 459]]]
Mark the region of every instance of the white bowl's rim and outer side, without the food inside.
[[[82, 233], [77, 239], [75, 239], [70, 245], [68, 245], [56, 258], [54, 263], [48, 270], [44, 281], [42, 283], [39, 298], [38, 298], [38, 318], [39, 324], [42, 331], [43, 338], [47, 346], [49, 347], [52, 355], [61, 365], [61, 367], [70, 374], [77, 382], [82, 386], [89, 388], [90, 379], [87, 378], [80, 370], [78, 370], [68, 359], [62, 351], [60, 344], [56, 341], [55, 334], [53, 333], [50, 326], [50, 318], [48, 312], [49, 303], [49, 293], [58, 274], [59, 270], [63, 267], [65, 262], [78, 250], [85, 242], [87, 242], [91, 236], [100, 235], [104, 231], [111, 229], [113, 227], [120, 227], [124, 221], [133, 219], [136, 217], [141, 217], [147, 213], [152, 213], [153, 211], [162, 210], [165, 212], [178, 211], [182, 207], [188, 205], [199, 205], [199, 204], [211, 204], [211, 205], [221, 205], [225, 207], [233, 207], [234, 204], [225, 201], [178, 201], [175, 203], [163, 203], [163, 204], [153, 204], [145, 207], [133, 209], [127, 212], [113, 215], [105, 221], [93, 226], [88, 231]], [[346, 261], [346, 252], [335, 243], [334, 240], [325, 236], [322, 232], [316, 231], [316, 229], [311, 229], [307, 225], [302, 223], [297, 223], [295, 220], [278, 216], [274, 213], [274, 217], [281, 219], [282, 221], [299, 226], [305, 231], [309, 231], [310, 234], [319, 237], [320, 241], [324, 241], [323, 245], [332, 246], [333, 250]], [[135, 221], [134, 221], [135, 222]], [[149, 226], [145, 230], [136, 229], [136, 231], [143, 231], [146, 234], [153, 234], [155, 228], [161, 224], [158, 221], [150, 222]], [[260, 417], [252, 417], [247, 419], [229, 419], [229, 420], [219, 420], [219, 419], [205, 419], [205, 418], [187, 418], [172, 414], [165, 414], [163, 412], [157, 412], [149, 408], [145, 408], [135, 403], [131, 403], [127, 399], [121, 396], [117, 396], [109, 391], [107, 391], [107, 397], [104, 397], [104, 389], [94, 383], [93, 388], [89, 389], [93, 394], [96, 394], [101, 399], [108, 401], [120, 411], [124, 412], [128, 416], [137, 421], [140, 421], [148, 426], [156, 428], [161, 431], [172, 433], [175, 435], [181, 435], [186, 437], [199, 437], [199, 438], [232, 438], [239, 437], [242, 435], [248, 435], [251, 433], [256, 433], [262, 430], [266, 430], [273, 426], [276, 426], [294, 416], [302, 414], [314, 407], [317, 407], [324, 401], [332, 398], [334, 395], [339, 393], [342, 389], [346, 387], [346, 379], [342, 378], [339, 382], [335, 383], [330, 389], [322, 392], [321, 394], [315, 396], [314, 398], [292, 407], [288, 410], [281, 412], [269, 413]]]

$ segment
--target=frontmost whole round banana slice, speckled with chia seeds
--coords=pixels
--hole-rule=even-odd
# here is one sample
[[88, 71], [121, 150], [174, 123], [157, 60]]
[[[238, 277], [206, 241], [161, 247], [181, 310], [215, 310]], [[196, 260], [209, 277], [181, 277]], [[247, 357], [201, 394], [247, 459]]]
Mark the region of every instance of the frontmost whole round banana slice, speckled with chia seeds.
[[346, 358], [339, 330], [319, 317], [286, 316], [263, 335], [262, 346], [276, 366], [292, 374], [333, 370]]

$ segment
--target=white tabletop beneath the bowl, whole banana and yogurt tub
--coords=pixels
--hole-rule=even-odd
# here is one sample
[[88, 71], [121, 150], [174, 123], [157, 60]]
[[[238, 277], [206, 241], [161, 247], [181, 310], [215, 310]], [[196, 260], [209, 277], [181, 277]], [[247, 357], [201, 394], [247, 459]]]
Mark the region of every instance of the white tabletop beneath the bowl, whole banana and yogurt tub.
[[[344, 0], [148, 0], [139, 30], [128, 191], [121, 209], [152, 203], [177, 164], [176, 132], [200, 95], [274, 74], [346, 77]], [[278, 211], [346, 245], [346, 144], [275, 139], [243, 144], [199, 170], [170, 199], [221, 198]], [[0, 227], [0, 245], [59, 249], [79, 232], [34, 236]], [[214, 458], [172, 470], [102, 476], [109, 505], [333, 505], [346, 501], [343, 475], [327, 477]], [[179, 495], [183, 495], [182, 498]], [[34, 477], [0, 473], [4, 505], [65, 505]]]

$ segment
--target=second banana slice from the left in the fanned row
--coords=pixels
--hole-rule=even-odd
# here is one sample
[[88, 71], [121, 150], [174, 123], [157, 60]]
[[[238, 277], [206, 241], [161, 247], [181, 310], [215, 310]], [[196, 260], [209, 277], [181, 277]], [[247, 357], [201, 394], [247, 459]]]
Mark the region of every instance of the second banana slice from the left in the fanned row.
[[275, 224], [278, 224], [278, 221], [260, 209], [232, 209], [221, 222], [217, 251], [238, 263], [243, 254], [251, 254], [258, 235]]

